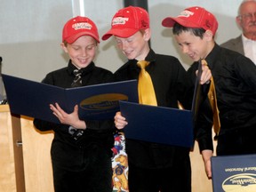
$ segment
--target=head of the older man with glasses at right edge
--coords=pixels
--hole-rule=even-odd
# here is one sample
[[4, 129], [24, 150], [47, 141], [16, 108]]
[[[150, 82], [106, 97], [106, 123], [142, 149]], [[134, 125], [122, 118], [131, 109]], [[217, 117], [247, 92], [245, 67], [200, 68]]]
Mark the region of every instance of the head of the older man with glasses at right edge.
[[256, 40], [256, 2], [242, 4], [240, 15], [236, 17], [237, 24], [243, 29], [244, 36]]

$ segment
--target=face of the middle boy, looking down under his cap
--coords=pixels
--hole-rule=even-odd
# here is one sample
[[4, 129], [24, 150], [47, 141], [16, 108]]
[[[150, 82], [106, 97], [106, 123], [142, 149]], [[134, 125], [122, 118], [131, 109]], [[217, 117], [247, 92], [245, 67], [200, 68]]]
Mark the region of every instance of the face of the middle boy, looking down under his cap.
[[142, 33], [138, 31], [132, 36], [122, 38], [115, 36], [116, 44], [128, 60], [145, 60], [148, 55], [148, 31]]

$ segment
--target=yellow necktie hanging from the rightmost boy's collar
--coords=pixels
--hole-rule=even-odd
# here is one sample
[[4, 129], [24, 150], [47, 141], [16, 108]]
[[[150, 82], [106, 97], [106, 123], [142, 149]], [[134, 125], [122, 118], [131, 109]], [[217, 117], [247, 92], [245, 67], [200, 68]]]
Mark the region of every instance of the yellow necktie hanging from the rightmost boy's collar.
[[[202, 65], [208, 65], [206, 60], [202, 60]], [[219, 116], [219, 109], [217, 106], [217, 96], [216, 96], [213, 77], [211, 77], [211, 84], [208, 92], [208, 98], [209, 98], [209, 101], [212, 107], [212, 113], [213, 113], [213, 129], [214, 129], [214, 132], [216, 133], [216, 136], [218, 136], [220, 132], [220, 116]]]

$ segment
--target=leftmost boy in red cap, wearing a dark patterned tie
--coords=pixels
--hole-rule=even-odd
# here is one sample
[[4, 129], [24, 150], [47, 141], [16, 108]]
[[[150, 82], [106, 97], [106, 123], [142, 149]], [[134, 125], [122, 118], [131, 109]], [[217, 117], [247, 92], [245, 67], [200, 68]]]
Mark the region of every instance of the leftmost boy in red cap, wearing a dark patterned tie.
[[[52, 71], [43, 83], [69, 88], [112, 82], [113, 74], [93, 62], [99, 43], [92, 20], [80, 16], [68, 20], [60, 44], [68, 53], [68, 67]], [[113, 119], [85, 122], [78, 117], [77, 105], [71, 114], [57, 103], [50, 108], [61, 124], [39, 119], [34, 124], [40, 131], [54, 131], [51, 155], [55, 192], [112, 192]]]

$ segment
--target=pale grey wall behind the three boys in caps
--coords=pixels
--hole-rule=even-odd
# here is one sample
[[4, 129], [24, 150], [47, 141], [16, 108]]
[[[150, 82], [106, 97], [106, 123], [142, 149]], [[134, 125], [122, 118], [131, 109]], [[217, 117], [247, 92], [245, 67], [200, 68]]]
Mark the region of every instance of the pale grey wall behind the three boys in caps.
[[[204, 6], [214, 12], [220, 22], [216, 41], [222, 43], [240, 33], [236, 27], [235, 16], [241, 1], [148, 0], [153, 30], [152, 47], [156, 52], [178, 57], [184, 67], [188, 68], [191, 60], [180, 56], [172, 39], [172, 30], [161, 26], [164, 17], [176, 16], [188, 6]], [[107, 32], [112, 16], [122, 6], [122, 0], [84, 0], [85, 15], [98, 24], [100, 36]], [[62, 27], [73, 15], [71, 0], [26, 0], [26, 3], [1, 0], [0, 12], [0, 56], [4, 59], [3, 73], [41, 81], [49, 71], [66, 66], [67, 56], [60, 49], [60, 42]], [[111, 71], [115, 71], [125, 61], [121, 52], [116, 52], [112, 38], [100, 43], [99, 53], [96, 64]]]

